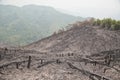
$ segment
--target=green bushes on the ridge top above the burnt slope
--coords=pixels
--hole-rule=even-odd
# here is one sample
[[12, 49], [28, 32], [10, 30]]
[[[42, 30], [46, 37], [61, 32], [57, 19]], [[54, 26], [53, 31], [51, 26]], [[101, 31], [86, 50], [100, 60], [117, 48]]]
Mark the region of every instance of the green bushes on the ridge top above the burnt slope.
[[103, 20], [96, 19], [93, 22], [94, 26], [101, 26], [102, 28], [109, 30], [120, 30], [120, 20], [113, 20], [111, 18], [105, 18]]

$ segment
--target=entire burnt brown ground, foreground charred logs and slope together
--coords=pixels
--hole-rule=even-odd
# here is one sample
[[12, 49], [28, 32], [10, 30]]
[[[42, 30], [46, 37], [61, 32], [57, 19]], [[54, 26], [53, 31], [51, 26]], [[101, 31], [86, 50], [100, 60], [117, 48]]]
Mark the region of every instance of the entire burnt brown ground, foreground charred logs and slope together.
[[22, 48], [0, 48], [0, 80], [120, 80], [120, 31], [77, 22]]

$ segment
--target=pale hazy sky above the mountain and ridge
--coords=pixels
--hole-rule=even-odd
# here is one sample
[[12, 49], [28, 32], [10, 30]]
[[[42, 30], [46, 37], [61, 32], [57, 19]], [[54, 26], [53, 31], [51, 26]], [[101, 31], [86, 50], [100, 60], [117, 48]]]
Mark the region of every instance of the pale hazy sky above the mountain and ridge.
[[47, 5], [81, 17], [111, 17], [120, 20], [120, 0], [0, 0], [0, 3]]

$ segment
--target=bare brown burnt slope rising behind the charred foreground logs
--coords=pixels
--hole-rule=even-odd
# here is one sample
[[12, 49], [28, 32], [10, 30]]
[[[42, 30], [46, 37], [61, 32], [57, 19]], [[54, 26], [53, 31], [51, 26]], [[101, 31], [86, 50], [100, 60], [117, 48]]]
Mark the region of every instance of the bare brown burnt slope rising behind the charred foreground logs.
[[91, 54], [120, 48], [120, 31], [100, 29], [98, 26], [73, 24], [70, 30], [27, 45], [27, 49], [45, 52], [76, 52]]

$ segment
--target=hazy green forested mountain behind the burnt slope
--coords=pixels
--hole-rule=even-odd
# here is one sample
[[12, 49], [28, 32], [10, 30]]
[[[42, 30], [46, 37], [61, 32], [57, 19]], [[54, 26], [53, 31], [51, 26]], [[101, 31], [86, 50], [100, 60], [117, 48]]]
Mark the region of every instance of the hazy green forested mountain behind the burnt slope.
[[47, 6], [0, 5], [0, 42], [25, 45], [78, 20], [85, 18], [64, 14]]

